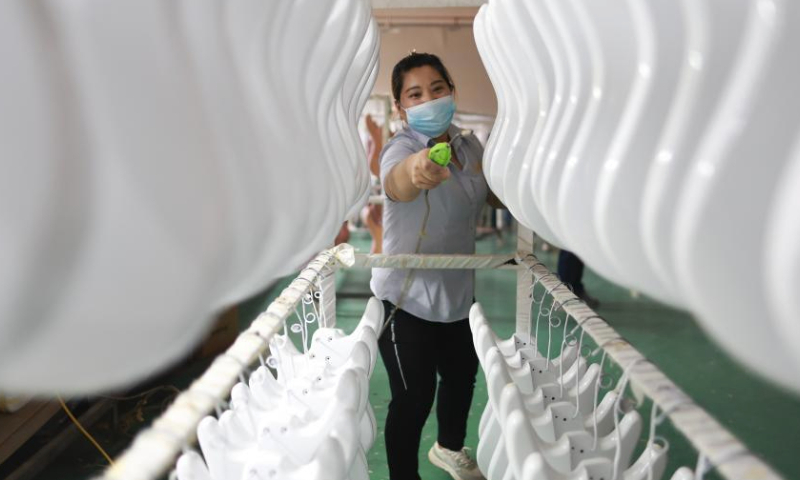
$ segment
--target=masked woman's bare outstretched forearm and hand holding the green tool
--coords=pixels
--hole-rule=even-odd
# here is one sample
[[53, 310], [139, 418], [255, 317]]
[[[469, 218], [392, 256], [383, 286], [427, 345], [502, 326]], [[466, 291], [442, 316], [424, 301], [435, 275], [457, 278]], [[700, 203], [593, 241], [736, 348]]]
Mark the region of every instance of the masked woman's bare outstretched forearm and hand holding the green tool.
[[396, 202], [410, 202], [422, 190], [431, 190], [450, 178], [450, 170], [428, 158], [429, 148], [411, 154], [396, 164], [383, 181], [386, 195]]

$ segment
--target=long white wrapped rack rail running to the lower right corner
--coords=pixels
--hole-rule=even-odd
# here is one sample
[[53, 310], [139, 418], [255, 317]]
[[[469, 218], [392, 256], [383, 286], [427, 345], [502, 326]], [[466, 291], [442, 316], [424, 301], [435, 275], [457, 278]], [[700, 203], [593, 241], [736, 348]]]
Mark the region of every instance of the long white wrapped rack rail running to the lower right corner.
[[672, 380], [625, 341], [611, 326], [581, 302], [539, 260], [519, 252], [522, 263], [533, 273], [535, 281], [543, 285], [576, 323], [594, 339], [623, 369], [629, 369], [629, 382], [650, 397], [672, 421], [672, 424], [705, 455], [729, 480], [780, 480], [781, 477], [767, 464], [753, 455], [747, 447], [717, 422], [711, 415], [694, 404]]

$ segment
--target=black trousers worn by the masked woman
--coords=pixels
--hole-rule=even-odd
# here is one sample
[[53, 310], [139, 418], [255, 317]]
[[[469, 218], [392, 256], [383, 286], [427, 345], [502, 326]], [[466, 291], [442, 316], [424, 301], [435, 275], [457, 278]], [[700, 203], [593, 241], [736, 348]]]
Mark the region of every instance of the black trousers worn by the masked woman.
[[[388, 319], [395, 307], [383, 304]], [[398, 310], [378, 346], [392, 391], [385, 430], [389, 478], [419, 480], [420, 437], [437, 394], [437, 374], [437, 440], [450, 450], [464, 447], [478, 373], [469, 320], [429, 322]]]

